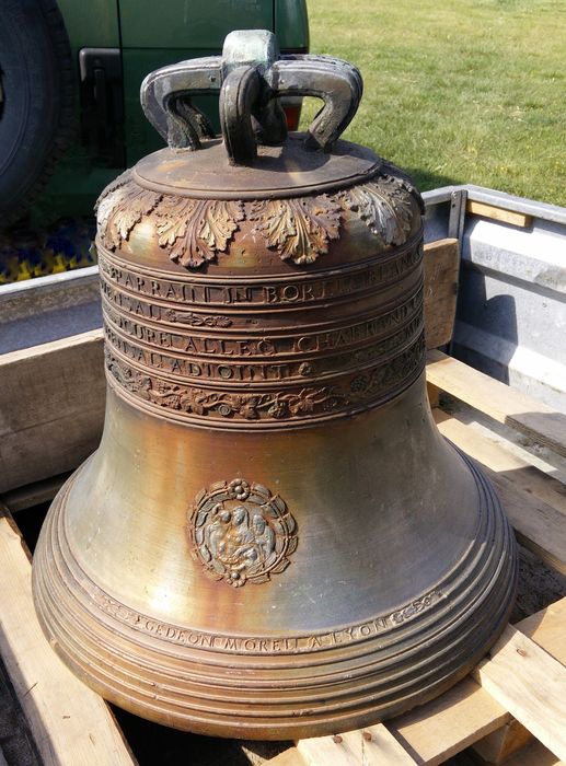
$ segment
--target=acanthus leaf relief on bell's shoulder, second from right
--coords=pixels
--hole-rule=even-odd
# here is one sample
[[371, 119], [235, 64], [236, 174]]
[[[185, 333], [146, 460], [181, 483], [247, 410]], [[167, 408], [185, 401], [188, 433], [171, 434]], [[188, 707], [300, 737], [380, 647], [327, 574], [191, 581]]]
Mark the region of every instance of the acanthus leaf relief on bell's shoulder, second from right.
[[312, 264], [338, 239], [340, 210], [326, 196], [300, 197], [253, 202], [247, 218], [284, 260]]

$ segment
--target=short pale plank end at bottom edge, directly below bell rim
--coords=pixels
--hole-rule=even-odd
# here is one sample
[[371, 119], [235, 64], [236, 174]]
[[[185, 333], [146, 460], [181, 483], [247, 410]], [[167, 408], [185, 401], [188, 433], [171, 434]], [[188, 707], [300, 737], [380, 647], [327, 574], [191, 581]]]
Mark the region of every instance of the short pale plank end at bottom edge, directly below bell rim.
[[415, 766], [417, 763], [382, 723], [335, 736], [300, 740], [297, 750], [309, 766]]

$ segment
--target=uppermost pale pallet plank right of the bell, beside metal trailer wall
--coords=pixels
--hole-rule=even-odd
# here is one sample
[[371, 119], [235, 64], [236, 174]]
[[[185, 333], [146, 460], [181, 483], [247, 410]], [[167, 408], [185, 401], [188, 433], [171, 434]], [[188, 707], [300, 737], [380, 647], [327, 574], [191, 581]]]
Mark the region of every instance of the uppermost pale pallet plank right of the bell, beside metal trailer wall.
[[437, 350], [428, 352], [427, 381], [566, 457], [563, 413]]

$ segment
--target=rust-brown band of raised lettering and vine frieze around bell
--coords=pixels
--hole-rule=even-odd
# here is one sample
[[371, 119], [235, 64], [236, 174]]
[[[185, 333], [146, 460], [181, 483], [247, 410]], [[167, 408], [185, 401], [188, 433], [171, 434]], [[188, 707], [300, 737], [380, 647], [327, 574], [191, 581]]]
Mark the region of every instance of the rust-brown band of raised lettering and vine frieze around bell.
[[[234, 288], [104, 253], [108, 380], [132, 404], [218, 427], [301, 425], [376, 406], [424, 367], [420, 256], [414, 242], [332, 275], [247, 277]], [[330, 311], [336, 295], [346, 303]]]

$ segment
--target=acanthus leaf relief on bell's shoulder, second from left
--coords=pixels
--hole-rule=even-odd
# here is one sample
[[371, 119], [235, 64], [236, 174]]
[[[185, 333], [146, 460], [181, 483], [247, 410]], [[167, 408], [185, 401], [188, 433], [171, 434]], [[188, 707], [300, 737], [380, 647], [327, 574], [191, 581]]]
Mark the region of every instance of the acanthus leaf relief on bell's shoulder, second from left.
[[244, 211], [238, 201], [165, 197], [155, 214], [160, 246], [171, 247], [171, 260], [194, 268], [226, 252]]

